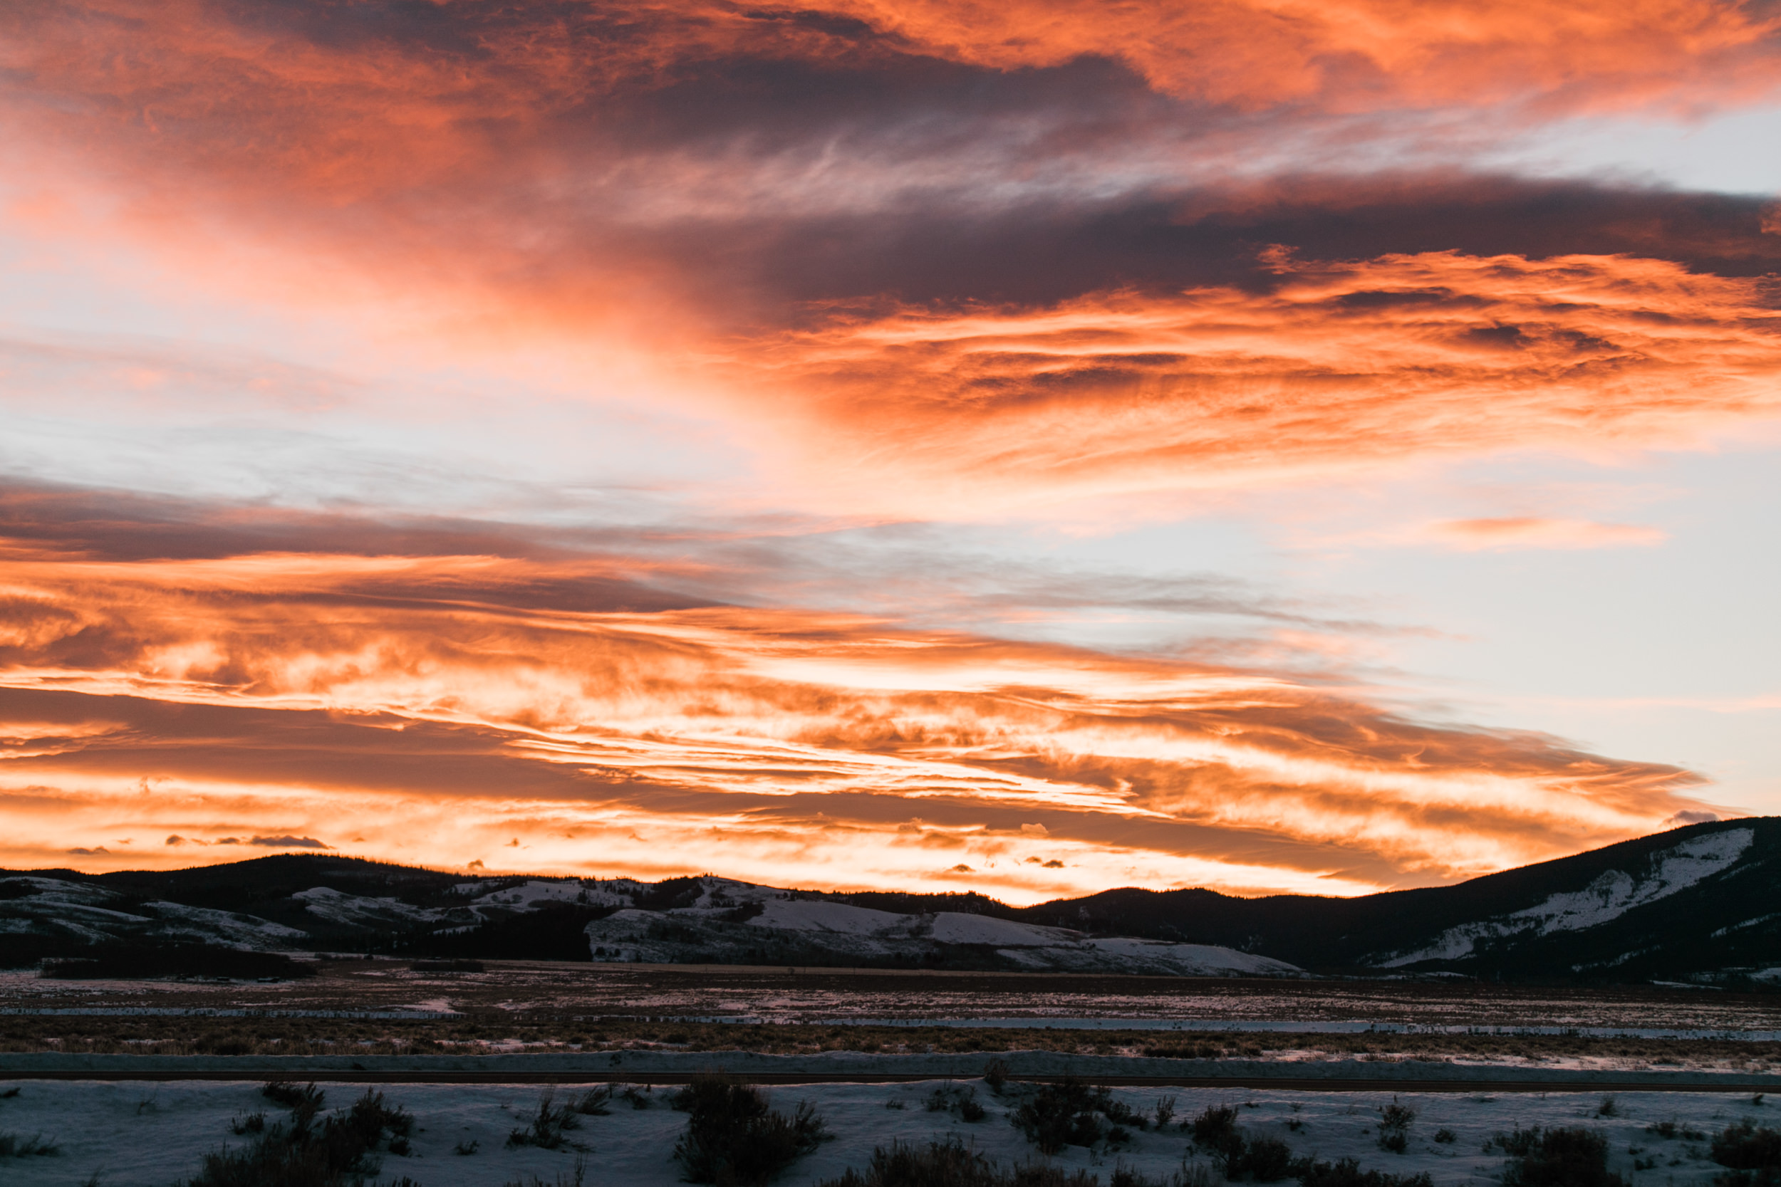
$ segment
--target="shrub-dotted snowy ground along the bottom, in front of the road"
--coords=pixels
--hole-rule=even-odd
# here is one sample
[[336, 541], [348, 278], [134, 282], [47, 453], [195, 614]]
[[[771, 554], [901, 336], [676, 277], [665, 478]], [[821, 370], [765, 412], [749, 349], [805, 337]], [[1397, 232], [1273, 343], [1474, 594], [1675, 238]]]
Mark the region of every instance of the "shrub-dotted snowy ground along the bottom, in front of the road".
[[[7, 1187], [75, 1187], [100, 1173], [107, 1187], [171, 1187], [191, 1176], [205, 1151], [244, 1139], [230, 1123], [265, 1110], [280, 1119], [283, 1110], [264, 1100], [256, 1084], [219, 1082], [45, 1082], [11, 1080], [18, 1096], [0, 1098], [0, 1132], [41, 1134], [59, 1146], [48, 1157], [0, 1159], [0, 1182]], [[353, 1084], [322, 1084], [329, 1109], [349, 1105], [365, 1091]], [[965, 1123], [947, 1112], [930, 1112], [926, 1098], [937, 1087], [972, 1087], [988, 1110], [981, 1121]], [[1010, 1086], [1013, 1089], [1015, 1086]], [[586, 1183], [670, 1187], [679, 1183], [671, 1162], [675, 1137], [686, 1116], [666, 1107], [671, 1089], [657, 1087], [648, 1109], [613, 1102], [609, 1116], [582, 1118], [570, 1137], [579, 1150], [556, 1151], [508, 1148], [508, 1134], [538, 1110], [538, 1086], [440, 1086], [397, 1084], [381, 1089], [388, 1103], [415, 1116], [417, 1130], [408, 1157], [386, 1155], [383, 1178], [410, 1176], [424, 1187], [500, 1187], [509, 1180], [554, 1182], [582, 1159]], [[557, 1089], [557, 1102], [570, 1087]], [[1033, 1159], [1019, 1130], [1008, 1123], [1013, 1096], [997, 1098], [981, 1080], [933, 1080], [923, 1084], [819, 1084], [771, 1089], [777, 1109], [791, 1110], [809, 1100], [821, 1110], [834, 1141], [794, 1164], [780, 1176], [785, 1187], [809, 1187], [841, 1175], [848, 1166], [864, 1167], [873, 1146], [890, 1139], [930, 1141], [958, 1134], [976, 1150], [1003, 1160]], [[1610, 1167], [1631, 1183], [1710, 1183], [1722, 1169], [1704, 1159], [1697, 1137], [1660, 1137], [1647, 1126], [1679, 1123], [1681, 1130], [1713, 1134], [1742, 1118], [1781, 1125], [1781, 1100], [1754, 1103], [1749, 1094], [1722, 1093], [1621, 1093], [1612, 1114], [1601, 1112], [1599, 1093], [1286, 1093], [1263, 1089], [1115, 1089], [1136, 1110], [1154, 1114], [1161, 1096], [1174, 1096], [1177, 1125], [1167, 1132], [1133, 1134], [1120, 1151], [1069, 1148], [1056, 1162], [1088, 1167], [1106, 1183], [1115, 1159], [1151, 1175], [1179, 1169], [1188, 1139], [1179, 1121], [1208, 1105], [1236, 1105], [1241, 1126], [1254, 1137], [1284, 1139], [1295, 1153], [1322, 1159], [1357, 1157], [1366, 1167], [1395, 1173], [1428, 1171], [1435, 1183], [1496, 1183], [1501, 1153], [1485, 1143], [1512, 1126], [1587, 1125], [1610, 1144]], [[1378, 1148], [1378, 1110], [1396, 1100], [1416, 1110], [1409, 1148], [1389, 1153]], [[1452, 1141], [1437, 1141], [1448, 1130]], [[1443, 1135], [1446, 1137], [1446, 1135]], [[476, 1153], [459, 1155], [458, 1148]], [[1637, 1160], [1637, 1166], [1635, 1166]]]

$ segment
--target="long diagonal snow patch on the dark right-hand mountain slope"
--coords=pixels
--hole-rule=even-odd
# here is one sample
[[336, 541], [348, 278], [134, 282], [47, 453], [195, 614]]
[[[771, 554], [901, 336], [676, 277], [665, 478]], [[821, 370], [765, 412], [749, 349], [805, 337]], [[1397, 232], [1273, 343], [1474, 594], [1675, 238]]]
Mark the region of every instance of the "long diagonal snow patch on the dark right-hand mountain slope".
[[1441, 933], [1434, 943], [1414, 952], [1375, 961], [1380, 968], [1398, 968], [1418, 961], [1453, 961], [1471, 956], [1478, 940], [1510, 934], [1548, 936], [1555, 931], [1583, 931], [1626, 915], [1633, 908], [1667, 899], [1731, 867], [1756, 840], [1751, 829], [1726, 829], [1696, 836], [1649, 858], [1639, 877], [1608, 870], [1583, 890], [1549, 895], [1544, 902], [1480, 924], [1462, 924]]

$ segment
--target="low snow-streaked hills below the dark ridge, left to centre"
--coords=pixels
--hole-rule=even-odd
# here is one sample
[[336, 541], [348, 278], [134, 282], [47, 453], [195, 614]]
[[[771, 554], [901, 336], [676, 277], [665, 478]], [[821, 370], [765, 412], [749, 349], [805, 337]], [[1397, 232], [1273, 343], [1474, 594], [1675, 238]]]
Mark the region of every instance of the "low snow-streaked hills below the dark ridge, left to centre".
[[[272, 906], [287, 922], [169, 900], [141, 900], [96, 881], [11, 877], [0, 883], [0, 950], [7, 938], [61, 938], [69, 954], [107, 940], [205, 941], [251, 950], [399, 947], [486, 954], [490, 933], [513, 940], [540, 924], [568, 927], [549, 950], [502, 956], [721, 965], [871, 965], [1161, 975], [1293, 975], [1284, 961], [1216, 945], [1086, 936], [1006, 918], [937, 911], [898, 915], [721, 877], [477, 879], [431, 895], [365, 895], [310, 886]], [[41, 947], [41, 945], [39, 945]]]

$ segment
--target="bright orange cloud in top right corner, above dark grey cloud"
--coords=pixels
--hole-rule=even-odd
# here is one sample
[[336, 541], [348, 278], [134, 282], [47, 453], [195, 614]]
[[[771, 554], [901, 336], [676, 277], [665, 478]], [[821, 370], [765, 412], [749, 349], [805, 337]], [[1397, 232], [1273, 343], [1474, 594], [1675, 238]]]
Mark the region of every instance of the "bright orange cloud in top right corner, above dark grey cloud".
[[[809, 5], [807, 11], [817, 9]], [[835, 0], [915, 46], [1001, 69], [1092, 53], [1152, 85], [1218, 103], [1674, 101], [1753, 96], [1781, 25], [1701, 0], [1512, 4], [1509, 0], [1248, 0], [1236, 4], [1026, 4]]]

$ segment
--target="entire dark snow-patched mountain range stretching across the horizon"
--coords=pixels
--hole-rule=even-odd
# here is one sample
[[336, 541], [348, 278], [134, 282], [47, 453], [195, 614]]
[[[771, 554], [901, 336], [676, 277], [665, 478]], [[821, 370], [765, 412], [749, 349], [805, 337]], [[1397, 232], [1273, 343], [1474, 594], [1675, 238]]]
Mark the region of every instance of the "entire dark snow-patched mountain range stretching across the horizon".
[[0, 963], [194, 940], [508, 959], [1781, 986], [1781, 819], [1697, 824], [1362, 899], [1122, 888], [1013, 908], [978, 893], [476, 877], [338, 856], [0, 872]]

